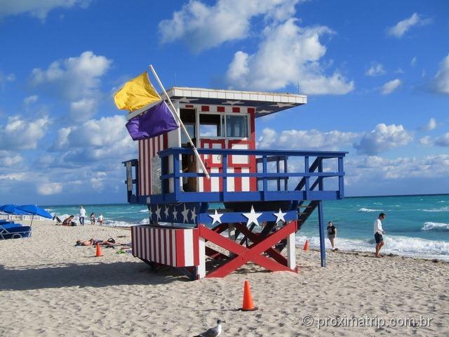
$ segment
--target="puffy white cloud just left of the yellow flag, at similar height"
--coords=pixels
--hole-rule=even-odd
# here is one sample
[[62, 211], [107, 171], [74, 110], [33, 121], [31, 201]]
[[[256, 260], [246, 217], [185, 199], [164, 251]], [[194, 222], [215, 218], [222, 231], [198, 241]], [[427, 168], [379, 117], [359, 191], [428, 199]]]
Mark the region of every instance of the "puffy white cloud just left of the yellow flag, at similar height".
[[111, 64], [105, 56], [85, 51], [78, 57], [54, 61], [46, 70], [35, 68], [29, 82], [33, 88], [65, 100], [92, 98]]

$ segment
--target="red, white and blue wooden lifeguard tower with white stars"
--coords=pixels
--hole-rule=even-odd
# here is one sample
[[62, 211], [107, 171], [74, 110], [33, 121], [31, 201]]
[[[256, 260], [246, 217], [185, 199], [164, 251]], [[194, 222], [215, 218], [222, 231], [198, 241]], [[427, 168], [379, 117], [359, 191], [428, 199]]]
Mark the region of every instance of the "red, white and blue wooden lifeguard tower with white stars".
[[[318, 209], [325, 267], [323, 200], [344, 196], [347, 152], [256, 149], [256, 119], [307, 96], [183, 87], [167, 94], [210, 179], [180, 128], [138, 140], [138, 159], [123, 164], [128, 202], [148, 206], [149, 225], [132, 227], [133, 256], [192, 279], [225, 277], [249, 261], [297, 272], [295, 233]], [[217, 263], [206, 268], [206, 259]]]

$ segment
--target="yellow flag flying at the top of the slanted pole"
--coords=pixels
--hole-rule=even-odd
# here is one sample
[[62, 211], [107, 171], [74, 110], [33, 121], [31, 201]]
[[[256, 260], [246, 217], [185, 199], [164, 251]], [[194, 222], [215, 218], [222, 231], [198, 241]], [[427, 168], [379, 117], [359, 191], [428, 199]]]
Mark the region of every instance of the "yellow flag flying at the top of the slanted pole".
[[130, 112], [145, 107], [145, 105], [161, 100], [149, 82], [147, 72], [131, 79], [114, 95], [115, 105], [120, 110]]

